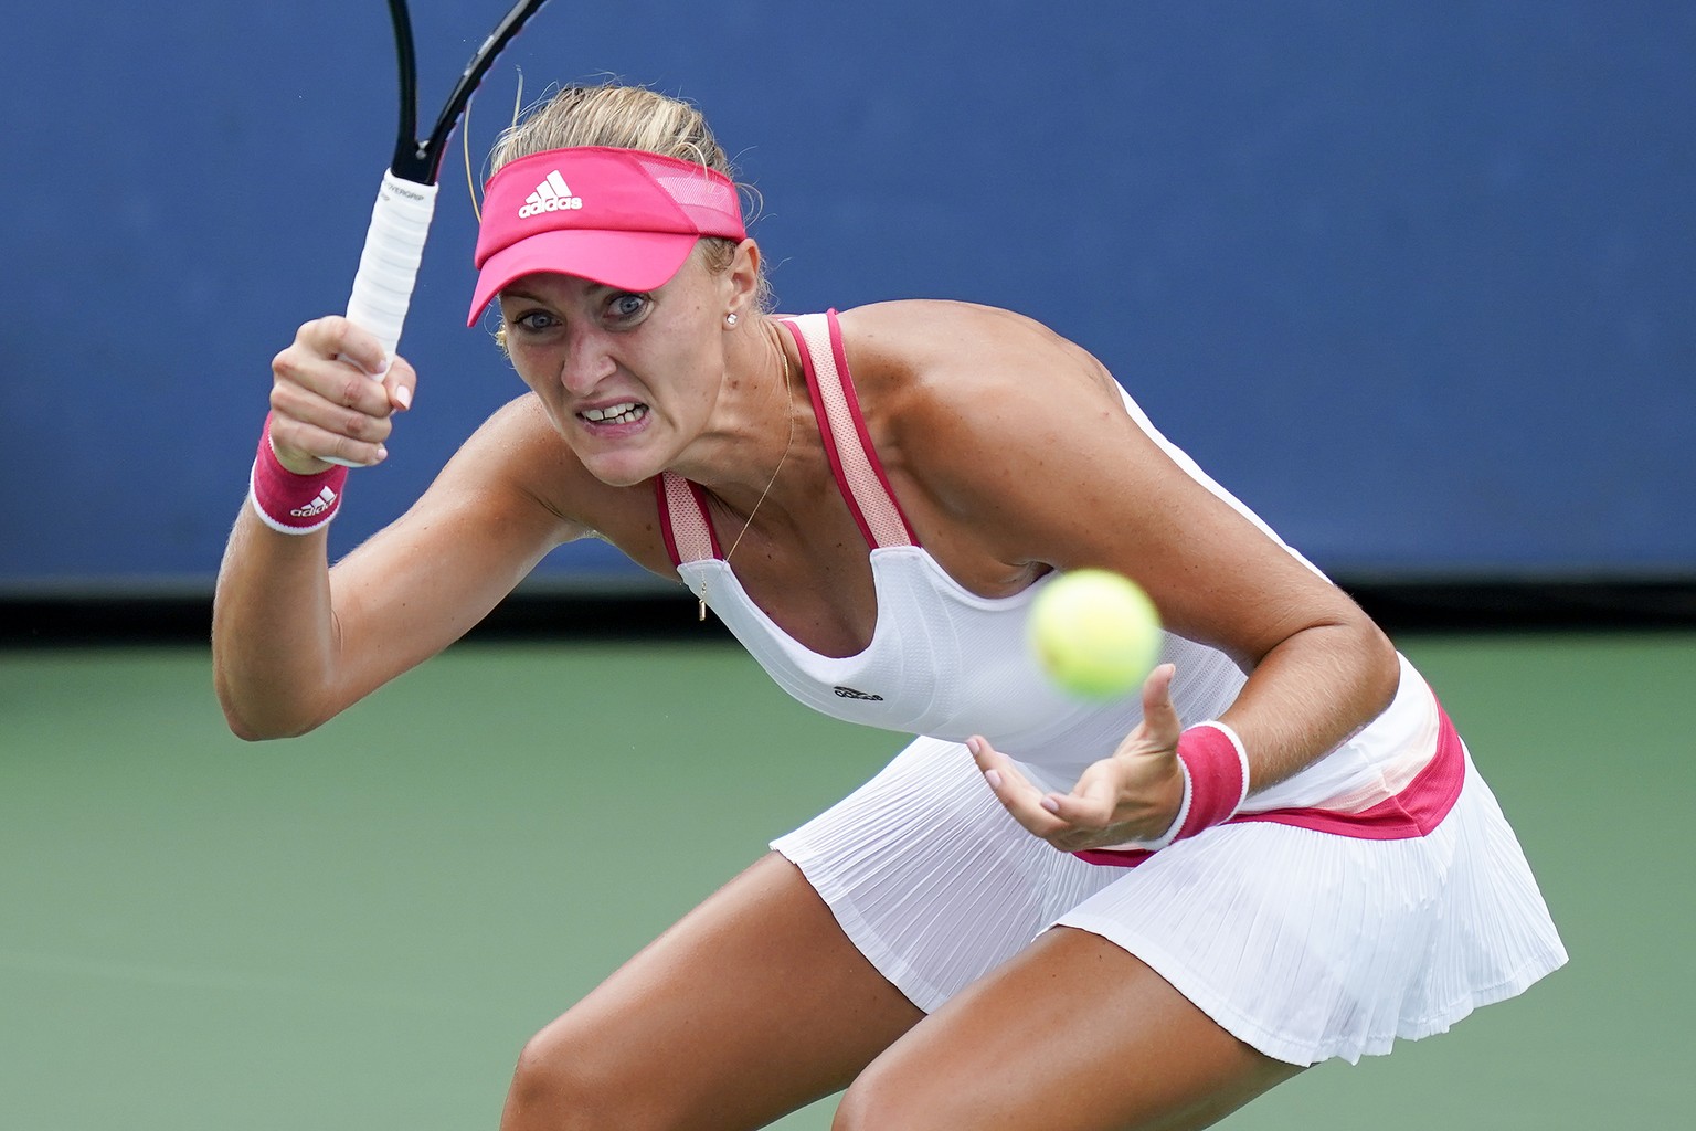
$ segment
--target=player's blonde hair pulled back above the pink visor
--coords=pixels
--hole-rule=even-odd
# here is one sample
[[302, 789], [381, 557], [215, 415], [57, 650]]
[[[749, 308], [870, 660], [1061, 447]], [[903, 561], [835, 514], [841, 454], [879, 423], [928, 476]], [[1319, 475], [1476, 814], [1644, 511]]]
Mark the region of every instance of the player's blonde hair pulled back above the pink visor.
[[[736, 181], [736, 170], [724, 154], [717, 137], [699, 109], [656, 93], [644, 86], [566, 86], [522, 120], [502, 131], [488, 154], [488, 173], [500, 166], [546, 149], [575, 146], [611, 146], [614, 149], [641, 149], [680, 161], [702, 164]], [[751, 188], [738, 185], [746, 205], [758, 200]], [[702, 236], [700, 251], [714, 273], [728, 271], [736, 256], [736, 241], [719, 236]], [[773, 309], [772, 287], [760, 265], [760, 290], [755, 307], [765, 314]]]

